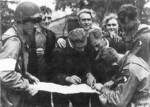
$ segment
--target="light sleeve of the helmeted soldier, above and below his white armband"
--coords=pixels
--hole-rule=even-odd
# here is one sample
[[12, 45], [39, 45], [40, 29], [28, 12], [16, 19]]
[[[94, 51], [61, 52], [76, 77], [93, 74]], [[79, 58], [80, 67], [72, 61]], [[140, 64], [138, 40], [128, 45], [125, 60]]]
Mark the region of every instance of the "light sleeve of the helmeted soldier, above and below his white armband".
[[[19, 51], [21, 49], [20, 40], [16, 37], [8, 39], [2, 47], [0, 58], [12, 58], [15, 61], [18, 59]], [[5, 66], [9, 66], [9, 63], [6, 63]], [[16, 63], [16, 62], [15, 62]], [[16, 65], [16, 64], [14, 64]], [[8, 68], [8, 67], [6, 67]], [[20, 73], [17, 73], [13, 70], [1, 70], [0, 72], [0, 81], [2, 86], [13, 90], [26, 90], [28, 88], [28, 80], [24, 79]]]

